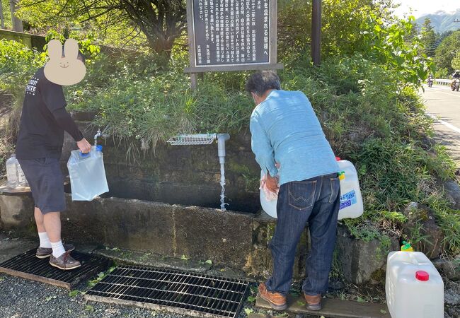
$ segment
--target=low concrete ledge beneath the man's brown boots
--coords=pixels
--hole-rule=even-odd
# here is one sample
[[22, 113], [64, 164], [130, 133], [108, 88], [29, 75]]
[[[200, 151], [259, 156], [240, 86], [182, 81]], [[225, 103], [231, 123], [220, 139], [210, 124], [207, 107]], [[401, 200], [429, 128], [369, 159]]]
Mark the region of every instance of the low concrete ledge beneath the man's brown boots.
[[[296, 314], [313, 314], [328, 318], [391, 318], [389, 310], [384, 304], [324, 298], [323, 309], [318, 312], [314, 312], [306, 309], [306, 302], [303, 296], [293, 298], [289, 295], [287, 302], [288, 307], [285, 311]], [[265, 300], [260, 298], [260, 296], [258, 296], [255, 301], [255, 306], [265, 310], [271, 309], [268, 302], [265, 302]]]

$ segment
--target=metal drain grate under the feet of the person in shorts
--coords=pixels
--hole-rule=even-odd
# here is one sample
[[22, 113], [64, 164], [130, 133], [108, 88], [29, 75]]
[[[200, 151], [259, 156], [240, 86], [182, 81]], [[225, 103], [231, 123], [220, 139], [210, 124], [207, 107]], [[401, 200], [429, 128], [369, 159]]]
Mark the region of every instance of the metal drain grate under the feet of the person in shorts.
[[105, 271], [110, 264], [110, 261], [103, 257], [73, 251], [71, 256], [81, 261], [81, 267], [71, 271], [62, 271], [51, 266], [50, 259], [35, 257], [35, 251], [36, 249], [30, 249], [28, 252], [4, 261], [0, 264], [0, 273], [49, 283], [70, 290], [82, 280], [91, 278], [100, 271]]

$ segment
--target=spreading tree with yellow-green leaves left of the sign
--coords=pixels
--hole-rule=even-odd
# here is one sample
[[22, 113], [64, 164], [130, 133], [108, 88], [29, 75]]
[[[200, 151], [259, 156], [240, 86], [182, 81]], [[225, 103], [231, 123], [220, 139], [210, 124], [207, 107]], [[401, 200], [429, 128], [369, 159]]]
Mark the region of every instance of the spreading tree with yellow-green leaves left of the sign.
[[21, 6], [21, 16], [31, 25], [89, 29], [94, 23], [101, 34], [125, 25], [130, 34], [143, 33], [146, 44], [166, 57], [187, 30], [185, 0], [21, 0]]

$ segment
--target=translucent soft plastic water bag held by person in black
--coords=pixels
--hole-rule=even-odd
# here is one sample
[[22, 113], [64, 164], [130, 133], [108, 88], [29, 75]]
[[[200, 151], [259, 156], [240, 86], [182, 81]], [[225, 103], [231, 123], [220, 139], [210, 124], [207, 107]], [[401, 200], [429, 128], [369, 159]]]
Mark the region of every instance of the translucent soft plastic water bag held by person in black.
[[87, 154], [71, 151], [69, 161], [72, 201], [91, 201], [108, 192], [102, 146], [93, 146]]

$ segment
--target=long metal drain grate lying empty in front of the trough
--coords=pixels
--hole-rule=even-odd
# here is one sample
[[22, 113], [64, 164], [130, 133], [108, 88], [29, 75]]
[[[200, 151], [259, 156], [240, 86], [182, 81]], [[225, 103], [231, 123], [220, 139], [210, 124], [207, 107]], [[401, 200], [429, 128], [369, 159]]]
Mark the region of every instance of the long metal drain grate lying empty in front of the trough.
[[197, 317], [238, 317], [249, 283], [166, 269], [117, 267], [86, 300], [166, 310]]

